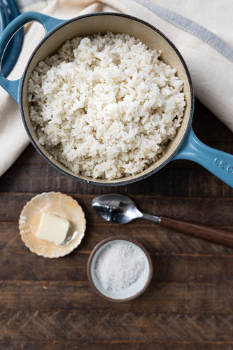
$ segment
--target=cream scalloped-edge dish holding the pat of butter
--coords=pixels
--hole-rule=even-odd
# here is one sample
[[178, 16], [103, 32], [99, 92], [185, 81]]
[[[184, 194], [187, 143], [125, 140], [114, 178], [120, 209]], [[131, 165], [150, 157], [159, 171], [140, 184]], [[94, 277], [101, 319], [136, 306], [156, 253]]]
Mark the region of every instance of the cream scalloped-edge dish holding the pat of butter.
[[[36, 237], [43, 213], [64, 218], [71, 225], [66, 240], [59, 246]], [[60, 258], [71, 253], [83, 239], [85, 228], [85, 215], [78, 202], [59, 192], [41, 193], [33, 197], [22, 209], [19, 219], [22, 241], [32, 253], [44, 258]]]

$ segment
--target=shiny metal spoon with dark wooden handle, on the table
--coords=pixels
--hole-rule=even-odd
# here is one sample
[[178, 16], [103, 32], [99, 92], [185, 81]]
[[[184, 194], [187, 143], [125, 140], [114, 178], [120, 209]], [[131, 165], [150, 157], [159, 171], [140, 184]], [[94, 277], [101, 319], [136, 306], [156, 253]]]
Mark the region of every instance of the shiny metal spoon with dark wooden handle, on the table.
[[92, 200], [92, 207], [99, 216], [112, 223], [125, 224], [130, 223], [136, 218], [145, 218], [146, 220], [153, 221], [158, 225], [171, 228], [172, 230], [177, 230], [190, 236], [199, 237], [206, 241], [233, 248], [232, 232], [218, 230], [217, 228], [211, 228], [196, 223], [187, 223], [172, 218], [141, 213], [141, 211], [137, 209], [136, 204], [125, 195], [118, 195], [116, 193], [100, 195]]

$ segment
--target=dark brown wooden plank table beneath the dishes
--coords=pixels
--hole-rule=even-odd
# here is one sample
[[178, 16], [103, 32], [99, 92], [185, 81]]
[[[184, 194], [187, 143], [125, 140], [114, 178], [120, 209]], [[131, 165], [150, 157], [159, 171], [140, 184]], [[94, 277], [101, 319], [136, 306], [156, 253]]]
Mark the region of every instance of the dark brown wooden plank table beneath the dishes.
[[[232, 153], [232, 132], [199, 102], [194, 129]], [[113, 225], [91, 207], [96, 195], [122, 193], [150, 214], [233, 231], [233, 190], [204, 168], [176, 161], [139, 183], [101, 188], [59, 174], [29, 146], [0, 191], [1, 349], [233, 349], [233, 250], [142, 219]], [[67, 193], [85, 211], [85, 238], [65, 258], [38, 257], [20, 239], [22, 207], [44, 191]], [[152, 283], [131, 302], [107, 302], [87, 281], [90, 251], [112, 235], [138, 239], [153, 259]]]

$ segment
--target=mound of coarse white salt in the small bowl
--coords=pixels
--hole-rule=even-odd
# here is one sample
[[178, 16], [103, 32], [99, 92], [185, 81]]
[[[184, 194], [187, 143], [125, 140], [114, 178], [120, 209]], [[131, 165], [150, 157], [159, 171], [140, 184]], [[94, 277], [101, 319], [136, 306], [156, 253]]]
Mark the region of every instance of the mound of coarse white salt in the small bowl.
[[119, 291], [139, 279], [144, 268], [144, 255], [135, 244], [115, 241], [99, 254], [95, 273], [105, 290]]

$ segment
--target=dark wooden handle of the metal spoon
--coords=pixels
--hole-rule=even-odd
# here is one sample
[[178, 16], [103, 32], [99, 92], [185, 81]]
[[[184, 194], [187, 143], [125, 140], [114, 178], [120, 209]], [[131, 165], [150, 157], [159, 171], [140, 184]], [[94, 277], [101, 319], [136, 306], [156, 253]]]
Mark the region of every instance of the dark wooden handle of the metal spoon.
[[190, 236], [202, 238], [206, 241], [222, 244], [233, 248], [233, 233], [218, 230], [218, 228], [210, 228], [208, 226], [199, 225], [197, 223], [185, 223], [184, 221], [175, 220], [172, 218], [161, 218], [160, 225], [183, 232]]

